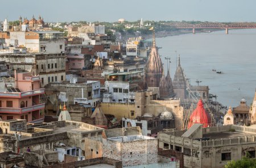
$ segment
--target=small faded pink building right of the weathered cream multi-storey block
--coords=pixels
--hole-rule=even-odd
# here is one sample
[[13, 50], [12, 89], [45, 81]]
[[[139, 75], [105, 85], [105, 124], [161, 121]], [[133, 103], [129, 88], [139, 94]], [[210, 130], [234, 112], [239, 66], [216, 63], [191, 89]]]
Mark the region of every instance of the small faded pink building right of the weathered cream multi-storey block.
[[67, 55], [69, 70], [81, 70], [84, 67], [84, 56], [83, 55]]

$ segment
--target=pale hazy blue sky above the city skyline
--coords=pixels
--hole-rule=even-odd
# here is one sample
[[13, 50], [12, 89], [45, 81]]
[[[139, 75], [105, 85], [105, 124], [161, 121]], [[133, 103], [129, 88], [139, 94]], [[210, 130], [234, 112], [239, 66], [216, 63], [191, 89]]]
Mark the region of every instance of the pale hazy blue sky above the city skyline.
[[[2, 6], [2, 7], [1, 7]], [[0, 20], [128, 21], [200, 20], [256, 21], [255, 0], [12, 0], [0, 2]]]

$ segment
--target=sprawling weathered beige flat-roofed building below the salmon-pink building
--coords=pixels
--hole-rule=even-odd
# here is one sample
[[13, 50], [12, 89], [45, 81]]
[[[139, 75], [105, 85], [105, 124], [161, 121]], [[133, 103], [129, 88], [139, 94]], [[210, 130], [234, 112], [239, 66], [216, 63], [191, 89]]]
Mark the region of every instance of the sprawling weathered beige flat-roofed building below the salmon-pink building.
[[[5, 120], [0, 122], [0, 152], [26, 152], [27, 147], [32, 150], [53, 150], [63, 143], [71, 147], [82, 149], [85, 156], [85, 137], [101, 136], [103, 128], [75, 121], [58, 121], [40, 123], [27, 126], [24, 119]], [[18, 141], [20, 132], [21, 137]]]

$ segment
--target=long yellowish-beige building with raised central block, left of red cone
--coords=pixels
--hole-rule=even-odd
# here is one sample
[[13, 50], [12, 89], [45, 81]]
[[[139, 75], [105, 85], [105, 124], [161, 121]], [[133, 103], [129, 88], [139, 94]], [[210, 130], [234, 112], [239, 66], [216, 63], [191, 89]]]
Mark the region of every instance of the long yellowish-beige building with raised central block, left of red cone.
[[177, 130], [183, 128], [183, 107], [179, 100], [157, 100], [159, 98], [158, 88], [135, 92], [135, 102], [133, 103], [101, 103], [101, 110], [104, 114], [113, 114], [117, 119], [123, 117], [135, 119], [145, 113], [158, 117], [164, 111], [169, 111], [174, 116]]

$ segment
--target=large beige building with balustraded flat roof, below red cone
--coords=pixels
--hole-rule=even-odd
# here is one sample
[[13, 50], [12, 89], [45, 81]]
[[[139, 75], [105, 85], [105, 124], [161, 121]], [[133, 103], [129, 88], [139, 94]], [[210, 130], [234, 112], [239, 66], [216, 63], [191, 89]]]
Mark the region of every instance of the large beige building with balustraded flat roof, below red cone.
[[184, 167], [224, 167], [228, 161], [255, 158], [256, 128], [228, 125], [203, 128], [193, 124], [189, 130], [159, 133], [159, 148], [184, 154]]

